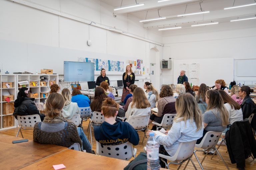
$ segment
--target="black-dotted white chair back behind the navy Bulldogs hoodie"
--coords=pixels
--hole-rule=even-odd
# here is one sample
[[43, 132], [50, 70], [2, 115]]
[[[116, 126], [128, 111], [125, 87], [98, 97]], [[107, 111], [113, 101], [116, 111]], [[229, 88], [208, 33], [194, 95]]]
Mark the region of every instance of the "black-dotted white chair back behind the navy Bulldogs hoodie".
[[130, 142], [119, 145], [102, 145], [96, 141], [96, 154], [117, 158], [122, 160], [130, 160], [131, 157], [136, 157], [137, 149], [133, 148]]

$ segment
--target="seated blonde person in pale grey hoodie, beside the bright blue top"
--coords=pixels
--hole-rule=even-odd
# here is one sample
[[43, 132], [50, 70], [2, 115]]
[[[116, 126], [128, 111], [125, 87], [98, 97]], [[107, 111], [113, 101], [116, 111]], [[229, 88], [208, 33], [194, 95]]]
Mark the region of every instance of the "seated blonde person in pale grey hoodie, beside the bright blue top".
[[74, 115], [80, 115], [77, 103], [71, 102], [71, 94], [69, 89], [63, 89], [61, 94], [65, 100], [65, 104], [62, 109], [62, 116], [65, 119], [72, 119]]

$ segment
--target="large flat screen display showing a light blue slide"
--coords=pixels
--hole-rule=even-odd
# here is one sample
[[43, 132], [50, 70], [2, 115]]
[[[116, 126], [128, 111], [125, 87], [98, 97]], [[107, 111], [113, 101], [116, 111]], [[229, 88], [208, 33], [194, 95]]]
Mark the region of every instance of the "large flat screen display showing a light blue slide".
[[94, 81], [94, 63], [64, 61], [64, 81]]

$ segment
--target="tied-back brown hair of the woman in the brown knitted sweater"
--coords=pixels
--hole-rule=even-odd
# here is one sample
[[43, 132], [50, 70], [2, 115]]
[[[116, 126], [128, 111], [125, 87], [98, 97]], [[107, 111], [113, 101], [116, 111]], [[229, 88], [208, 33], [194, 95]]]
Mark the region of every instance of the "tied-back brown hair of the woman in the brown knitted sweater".
[[59, 116], [64, 107], [65, 100], [59, 93], [52, 93], [47, 97], [45, 103], [45, 112], [49, 118]]

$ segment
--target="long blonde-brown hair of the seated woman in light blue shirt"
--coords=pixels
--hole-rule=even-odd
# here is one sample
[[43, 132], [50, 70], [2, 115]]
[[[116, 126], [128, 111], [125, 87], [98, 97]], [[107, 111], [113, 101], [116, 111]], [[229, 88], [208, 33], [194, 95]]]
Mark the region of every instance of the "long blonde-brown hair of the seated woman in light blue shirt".
[[203, 127], [201, 111], [198, 108], [195, 98], [189, 93], [179, 95], [175, 102], [175, 109], [177, 112], [174, 119], [175, 122], [184, 121], [186, 124], [186, 121], [190, 119], [190, 122], [193, 122], [193, 120], [195, 121], [197, 131]]

